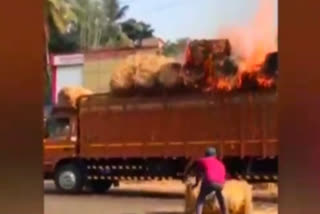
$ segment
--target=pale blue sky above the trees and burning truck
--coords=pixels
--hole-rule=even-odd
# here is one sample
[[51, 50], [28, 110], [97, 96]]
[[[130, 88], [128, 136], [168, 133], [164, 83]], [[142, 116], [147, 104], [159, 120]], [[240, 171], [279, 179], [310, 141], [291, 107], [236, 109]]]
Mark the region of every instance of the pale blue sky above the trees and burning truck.
[[[129, 5], [125, 18], [151, 24], [154, 35], [164, 40], [214, 38], [225, 26], [239, 26], [252, 19], [262, 0], [120, 0]], [[278, 0], [274, 2], [277, 29]]]

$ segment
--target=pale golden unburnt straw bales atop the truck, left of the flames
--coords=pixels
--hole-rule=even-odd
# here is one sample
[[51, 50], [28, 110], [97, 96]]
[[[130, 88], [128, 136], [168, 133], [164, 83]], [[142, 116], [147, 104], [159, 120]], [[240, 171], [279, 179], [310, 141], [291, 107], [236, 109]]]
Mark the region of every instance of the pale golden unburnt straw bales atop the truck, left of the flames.
[[112, 92], [151, 91], [157, 87], [178, 85], [182, 65], [173, 58], [157, 54], [135, 54], [127, 57], [111, 76]]

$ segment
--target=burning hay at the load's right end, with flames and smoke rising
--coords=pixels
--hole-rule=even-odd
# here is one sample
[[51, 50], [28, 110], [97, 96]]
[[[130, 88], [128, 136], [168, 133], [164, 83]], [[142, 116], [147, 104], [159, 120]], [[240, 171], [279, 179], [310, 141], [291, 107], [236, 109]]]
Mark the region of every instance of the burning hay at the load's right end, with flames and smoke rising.
[[224, 26], [219, 36], [228, 38], [238, 65], [234, 90], [259, 90], [276, 87], [278, 52], [273, 28], [274, 2], [260, 0], [253, 19], [242, 26]]

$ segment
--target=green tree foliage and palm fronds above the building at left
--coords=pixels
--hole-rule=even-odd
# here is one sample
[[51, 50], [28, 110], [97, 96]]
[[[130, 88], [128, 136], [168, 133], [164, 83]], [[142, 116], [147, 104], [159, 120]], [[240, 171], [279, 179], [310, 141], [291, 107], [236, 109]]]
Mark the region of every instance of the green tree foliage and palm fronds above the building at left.
[[56, 53], [141, 46], [143, 39], [153, 36], [149, 24], [135, 19], [123, 21], [129, 6], [119, 0], [47, 1], [52, 13], [47, 19], [52, 20], [49, 49]]

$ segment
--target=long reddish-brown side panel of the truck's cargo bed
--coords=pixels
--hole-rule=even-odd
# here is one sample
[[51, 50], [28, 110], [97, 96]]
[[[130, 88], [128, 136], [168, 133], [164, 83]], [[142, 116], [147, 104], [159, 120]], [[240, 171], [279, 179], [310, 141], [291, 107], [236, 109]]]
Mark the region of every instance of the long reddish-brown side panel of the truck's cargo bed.
[[81, 155], [199, 157], [213, 145], [224, 157], [274, 157], [276, 99], [275, 93], [86, 97], [79, 104]]

